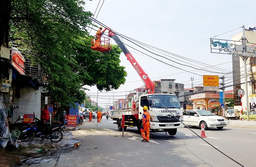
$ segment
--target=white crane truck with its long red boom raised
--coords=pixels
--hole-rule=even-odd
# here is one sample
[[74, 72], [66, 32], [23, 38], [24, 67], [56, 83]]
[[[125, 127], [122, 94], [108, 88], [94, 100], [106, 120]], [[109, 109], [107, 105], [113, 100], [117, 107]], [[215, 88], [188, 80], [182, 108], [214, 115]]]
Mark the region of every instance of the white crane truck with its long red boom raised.
[[[109, 30], [108, 36], [114, 39], [125, 54], [126, 58], [134, 66], [144, 81], [147, 90], [147, 93], [140, 95], [138, 99], [132, 98], [131, 101], [127, 101], [132, 104], [129, 109], [121, 109], [118, 108], [118, 106], [115, 106], [115, 109], [110, 111], [111, 119], [116, 120], [114, 123], [117, 124], [118, 130], [122, 130], [121, 122], [123, 117], [124, 130], [126, 130], [126, 127], [136, 126], [138, 130], [140, 130], [142, 125], [143, 106], [147, 105], [151, 115], [151, 132], [167, 131], [170, 135], [175, 135], [177, 128], [184, 127], [183, 112], [178, 97], [174, 94], [155, 94], [154, 82], [148, 77], [147, 73], [143, 70], [141, 65], [137, 62], [132, 53], [125, 47], [114, 31], [106, 27], [102, 32], [104, 32], [106, 29]], [[109, 46], [106, 48], [109, 49]], [[102, 50], [102, 48], [99, 50]]]

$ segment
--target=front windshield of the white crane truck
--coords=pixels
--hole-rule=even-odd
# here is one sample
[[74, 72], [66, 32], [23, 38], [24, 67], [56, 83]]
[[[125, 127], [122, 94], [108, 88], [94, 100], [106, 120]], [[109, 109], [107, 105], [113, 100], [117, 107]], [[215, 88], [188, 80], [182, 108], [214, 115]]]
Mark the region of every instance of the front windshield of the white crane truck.
[[153, 108], [180, 108], [180, 101], [176, 95], [154, 94], [149, 95], [149, 100], [152, 100]]

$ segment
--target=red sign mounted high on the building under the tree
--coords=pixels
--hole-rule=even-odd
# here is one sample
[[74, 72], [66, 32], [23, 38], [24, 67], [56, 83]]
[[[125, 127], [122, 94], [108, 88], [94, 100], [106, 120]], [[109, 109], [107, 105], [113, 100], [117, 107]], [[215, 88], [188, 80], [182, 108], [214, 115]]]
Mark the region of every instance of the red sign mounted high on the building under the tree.
[[22, 53], [18, 50], [12, 50], [12, 65], [20, 72], [22, 75], [25, 74], [25, 58]]

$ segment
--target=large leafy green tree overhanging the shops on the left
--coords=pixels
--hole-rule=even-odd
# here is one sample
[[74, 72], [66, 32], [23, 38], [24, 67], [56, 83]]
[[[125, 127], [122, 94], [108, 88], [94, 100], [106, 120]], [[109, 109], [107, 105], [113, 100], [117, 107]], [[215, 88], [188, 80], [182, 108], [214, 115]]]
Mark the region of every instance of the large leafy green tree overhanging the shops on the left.
[[[18, 47], [40, 66], [39, 80], [45, 90], [62, 106], [76, 102], [82, 85], [99, 90], [117, 89], [126, 71], [119, 65], [120, 49], [112, 46], [106, 53], [90, 49], [85, 27], [91, 12], [84, 11], [81, 0], [2, 0], [0, 39]], [[2, 15], [2, 16], [3, 16]], [[2, 17], [1, 17], [2, 18]], [[7, 28], [8, 26], [8, 28]], [[10, 34], [9, 34], [10, 30]], [[4, 34], [4, 35], [3, 35]], [[8, 38], [6, 37], [8, 36]]]

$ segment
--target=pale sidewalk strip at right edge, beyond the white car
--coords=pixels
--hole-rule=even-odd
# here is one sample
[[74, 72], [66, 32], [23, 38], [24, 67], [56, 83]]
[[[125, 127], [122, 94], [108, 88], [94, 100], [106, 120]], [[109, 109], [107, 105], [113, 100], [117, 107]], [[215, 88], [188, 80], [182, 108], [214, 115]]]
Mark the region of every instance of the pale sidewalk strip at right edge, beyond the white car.
[[256, 129], [256, 121], [255, 120], [235, 120], [230, 119], [227, 120], [227, 127], [240, 127], [240, 128], [253, 128]]

